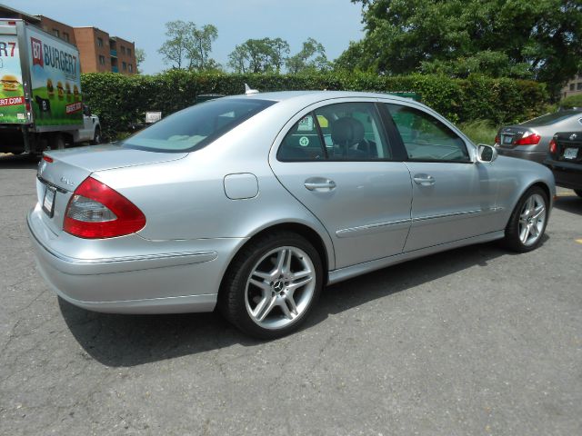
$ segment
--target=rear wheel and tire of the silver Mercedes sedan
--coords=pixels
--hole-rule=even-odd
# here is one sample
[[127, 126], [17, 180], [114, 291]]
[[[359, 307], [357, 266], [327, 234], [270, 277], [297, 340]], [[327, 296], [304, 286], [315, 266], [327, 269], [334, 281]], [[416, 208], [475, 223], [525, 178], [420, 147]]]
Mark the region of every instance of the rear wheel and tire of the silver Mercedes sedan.
[[311, 243], [296, 233], [270, 233], [236, 254], [225, 274], [218, 309], [243, 332], [275, 339], [305, 322], [322, 284], [321, 259]]

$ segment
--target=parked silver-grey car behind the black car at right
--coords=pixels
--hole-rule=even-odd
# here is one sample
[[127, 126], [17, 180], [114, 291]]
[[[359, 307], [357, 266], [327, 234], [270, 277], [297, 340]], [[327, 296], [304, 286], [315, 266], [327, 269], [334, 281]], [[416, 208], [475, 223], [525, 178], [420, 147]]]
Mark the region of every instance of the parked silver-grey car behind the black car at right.
[[546, 114], [522, 124], [501, 127], [495, 137], [495, 146], [498, 147], [499, 154], [543, 163], [554, 134], [577, 131], [580, 128], [580, 109]]

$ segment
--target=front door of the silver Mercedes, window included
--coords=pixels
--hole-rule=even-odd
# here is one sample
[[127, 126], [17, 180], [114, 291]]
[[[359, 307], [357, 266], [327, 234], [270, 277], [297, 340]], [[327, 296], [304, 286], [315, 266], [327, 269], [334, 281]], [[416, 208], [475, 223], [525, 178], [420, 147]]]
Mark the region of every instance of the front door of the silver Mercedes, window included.
[[465, 139], [436, 114], [408, 104], [386, 108], [413, 181], [412, 225], [404, 251], [499, 230], [492, 219], [497, 213], [492, 164], [478, 163]]

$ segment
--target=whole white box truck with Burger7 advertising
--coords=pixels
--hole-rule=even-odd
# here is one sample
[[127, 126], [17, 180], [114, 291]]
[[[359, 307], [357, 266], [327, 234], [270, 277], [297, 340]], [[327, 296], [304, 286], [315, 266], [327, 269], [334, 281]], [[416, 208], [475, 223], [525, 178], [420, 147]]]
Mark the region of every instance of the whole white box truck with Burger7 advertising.
[[99, 143], [99, 118], [83, 104], [80, 70], [75, 45], [0, 18], [0, 153]]

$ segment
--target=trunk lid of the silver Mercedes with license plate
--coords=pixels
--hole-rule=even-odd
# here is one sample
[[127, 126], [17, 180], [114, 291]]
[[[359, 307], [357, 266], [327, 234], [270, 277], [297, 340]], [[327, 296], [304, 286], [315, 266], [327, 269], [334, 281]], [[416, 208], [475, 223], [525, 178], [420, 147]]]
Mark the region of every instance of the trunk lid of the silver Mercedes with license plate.
[[182, 159], [186, 153], [155, 153], [118, 145], [94, 145], [45, 152], [38, 163], [36, 195], [42, 220], [54, 232], [63, 229], [66, 205], [76, 187], [91, 173], [114, 168]]

